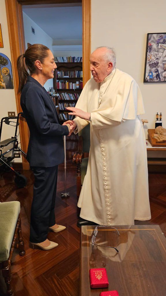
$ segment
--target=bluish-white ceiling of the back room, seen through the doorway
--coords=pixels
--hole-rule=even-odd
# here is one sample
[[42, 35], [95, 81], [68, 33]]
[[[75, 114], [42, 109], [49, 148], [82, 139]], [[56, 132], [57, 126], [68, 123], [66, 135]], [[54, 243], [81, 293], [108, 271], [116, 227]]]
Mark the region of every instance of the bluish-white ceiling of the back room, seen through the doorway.
[[82, 6], [27, 5], [22, 10], [53, 40], [82, 39]]

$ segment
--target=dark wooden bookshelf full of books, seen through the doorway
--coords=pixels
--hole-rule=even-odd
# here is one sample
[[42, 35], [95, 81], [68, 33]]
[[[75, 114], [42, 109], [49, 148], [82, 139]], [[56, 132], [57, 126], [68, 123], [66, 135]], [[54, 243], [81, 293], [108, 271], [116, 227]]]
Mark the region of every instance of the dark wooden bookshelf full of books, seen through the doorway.
[[[82, 62], [56, 62], [56, 65], [53, 88], [56, 91], [55, 103], [58, 106], [59, 120], [63, 124], [66, 120], [73, 119], [65, 107], [74, 107], [82, 91]], [[72, 159], [77, 148], [78, 135], [66, 137], [67, 165], [73, 166]]]

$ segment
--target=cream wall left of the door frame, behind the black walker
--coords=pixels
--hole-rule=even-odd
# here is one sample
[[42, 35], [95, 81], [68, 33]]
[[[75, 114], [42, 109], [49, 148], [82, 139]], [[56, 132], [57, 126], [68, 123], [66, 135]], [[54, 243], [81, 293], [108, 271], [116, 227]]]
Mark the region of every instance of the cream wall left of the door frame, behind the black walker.
[[[0, 52], [5, 54], [11, 61], [5, 0], [0, 1], [0, 23], [1, 23], [1, 30], [2, 30], [2, 38], [4, 43], [4, 48], [0, 48]], [[17, 115], [16, 98], [15, 98], [14, 89], [0, 89], [0, 120], [1, 118], [8, 116], [8, 111], [12, 111], [12, 112], [14, 111], [15, 114]], [[13, 126], [9, 126], [4, 123], [1, 141], [4, 139], [11, 138], [12, 136], [14, 136], [14, 133], [15, 133], [15, 128]], [[4, 148], [4, 150], [5, 149], [6, 148]], [[22, 162], [22, 158], [16, 158], [15, 162]]]

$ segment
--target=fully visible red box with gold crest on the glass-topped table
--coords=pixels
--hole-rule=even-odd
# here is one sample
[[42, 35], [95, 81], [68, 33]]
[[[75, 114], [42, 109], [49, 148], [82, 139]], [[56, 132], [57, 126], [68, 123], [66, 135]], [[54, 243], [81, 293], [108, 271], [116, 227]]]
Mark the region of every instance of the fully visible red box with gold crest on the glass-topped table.
[[91, 288], [107, 288], [109, 285], [105, 268], [89, 269], [89, 278]]

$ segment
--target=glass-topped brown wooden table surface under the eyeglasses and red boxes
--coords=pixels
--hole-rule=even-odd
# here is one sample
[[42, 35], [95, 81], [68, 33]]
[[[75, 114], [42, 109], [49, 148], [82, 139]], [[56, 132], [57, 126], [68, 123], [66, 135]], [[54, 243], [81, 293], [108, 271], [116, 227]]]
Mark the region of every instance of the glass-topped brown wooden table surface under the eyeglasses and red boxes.
[[[120, 296], [166, 295], [166, 238], [160, 226], [132, 225], [81, 228], [80, 296], [99, 296], [100, 292], [117, 290]], [[118, 253], [111, 248], [116, 247]], [[90, 268], [106, 268], [109, 287], [91, 289]]]

